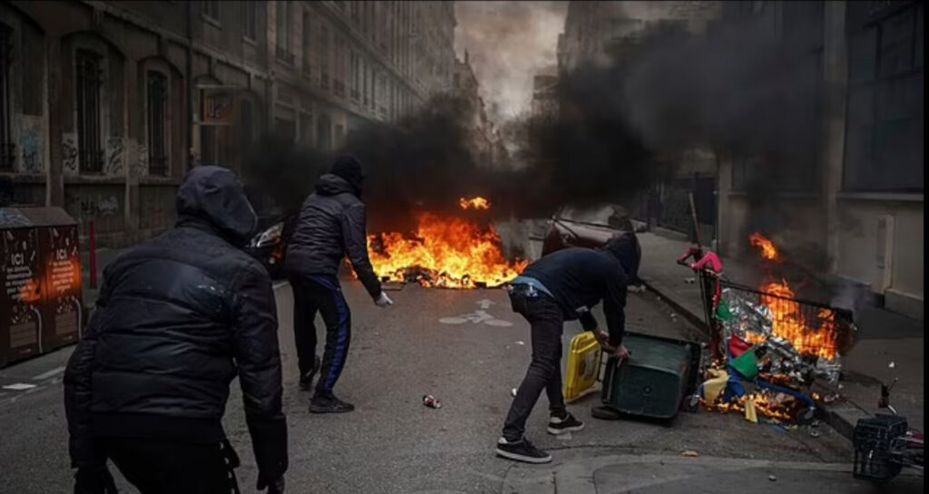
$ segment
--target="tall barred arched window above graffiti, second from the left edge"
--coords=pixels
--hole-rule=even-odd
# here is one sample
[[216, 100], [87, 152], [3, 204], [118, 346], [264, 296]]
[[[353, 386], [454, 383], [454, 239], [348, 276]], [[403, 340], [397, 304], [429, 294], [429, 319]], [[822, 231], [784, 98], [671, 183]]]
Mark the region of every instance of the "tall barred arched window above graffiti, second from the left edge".
[[101, 58], [89, 50], [77, 50], [74, 69], [77, 72], [77, 146], [82, 173], [103, 170], [103, 150], [100, 138], [100, 72]]

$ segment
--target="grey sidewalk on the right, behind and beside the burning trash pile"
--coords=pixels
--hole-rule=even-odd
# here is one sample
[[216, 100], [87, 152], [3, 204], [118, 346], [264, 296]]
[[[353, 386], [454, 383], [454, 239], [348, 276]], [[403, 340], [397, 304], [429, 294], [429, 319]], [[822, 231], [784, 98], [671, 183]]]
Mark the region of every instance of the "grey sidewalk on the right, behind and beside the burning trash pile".
[[[639, 241], [642, 244], [639, 275], [648, 288], [687, 318], [705, 323], [700, 286], [687, 283], [685, 280], [693, 278], [693, 272], [675, 263], [690, 244], [655, 233], [641, 233]], [[763, 280], [763, 273], [747, 263], [723, 258], [723, 266], [726, 277], [740, 284], [758, 286]], [[891, 392], [891, 404], [907, 417], [911, 427], [922, 430], [922, 322], [878, 307], [859, 308], [855, 320], [859, 341], [847, 356], [843, 356], [843, 376], [838, 390], [842, 398], [824, 406], [826, 420], [840, 433], [850, 436], [858, 418], [879, 411], [880, 383], [898, 378]], [[888, 411], [883, 410], [883, 413]]]

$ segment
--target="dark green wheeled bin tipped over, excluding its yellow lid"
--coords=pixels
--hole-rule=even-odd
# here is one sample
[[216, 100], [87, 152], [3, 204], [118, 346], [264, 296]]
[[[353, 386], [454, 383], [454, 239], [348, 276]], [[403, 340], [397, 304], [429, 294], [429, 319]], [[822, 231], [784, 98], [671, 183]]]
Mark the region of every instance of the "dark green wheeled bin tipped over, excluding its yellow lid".
[[610, 358], [603, 379], [603, 403], [628, 415], [671, 419], [685, 396], [695, 392], [700, 345], [640, 333], [626, 333], [630, 358]]

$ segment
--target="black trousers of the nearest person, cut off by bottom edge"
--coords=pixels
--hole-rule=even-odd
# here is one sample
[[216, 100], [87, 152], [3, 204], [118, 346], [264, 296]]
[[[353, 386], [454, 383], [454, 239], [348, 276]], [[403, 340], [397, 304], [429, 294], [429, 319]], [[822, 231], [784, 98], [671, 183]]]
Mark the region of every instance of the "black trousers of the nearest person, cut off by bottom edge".
[[[229, 443], [105, 439], [107, 457], [141, 494], [238, 493]], [[234, 461], [233, 461], [234, 460]]]

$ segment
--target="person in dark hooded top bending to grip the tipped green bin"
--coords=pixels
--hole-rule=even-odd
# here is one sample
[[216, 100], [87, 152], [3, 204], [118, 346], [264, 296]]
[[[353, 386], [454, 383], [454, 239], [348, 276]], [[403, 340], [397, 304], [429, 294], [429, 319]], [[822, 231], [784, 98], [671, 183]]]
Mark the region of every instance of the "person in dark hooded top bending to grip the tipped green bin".
[[[566, 320], [580, 319], [585, 331], [615, 357], [629, 357], [622, 344], [628, 273], [638, 269], [634, 237], [621, 234], [600, 249], [574, 247], [543, 256], [508, 286], [513, 310], [530, 322], [532, 361], [506, 414], [499, 456], [544, 463], [552, 456], [524, 437], [526, 421], [545, 390], [549, 401], [548, 433], [559, 435], [583, 428], [565, 408], [561, 394], [561, 332]], [[591, 310], [603, 301], [607, 330]]]

